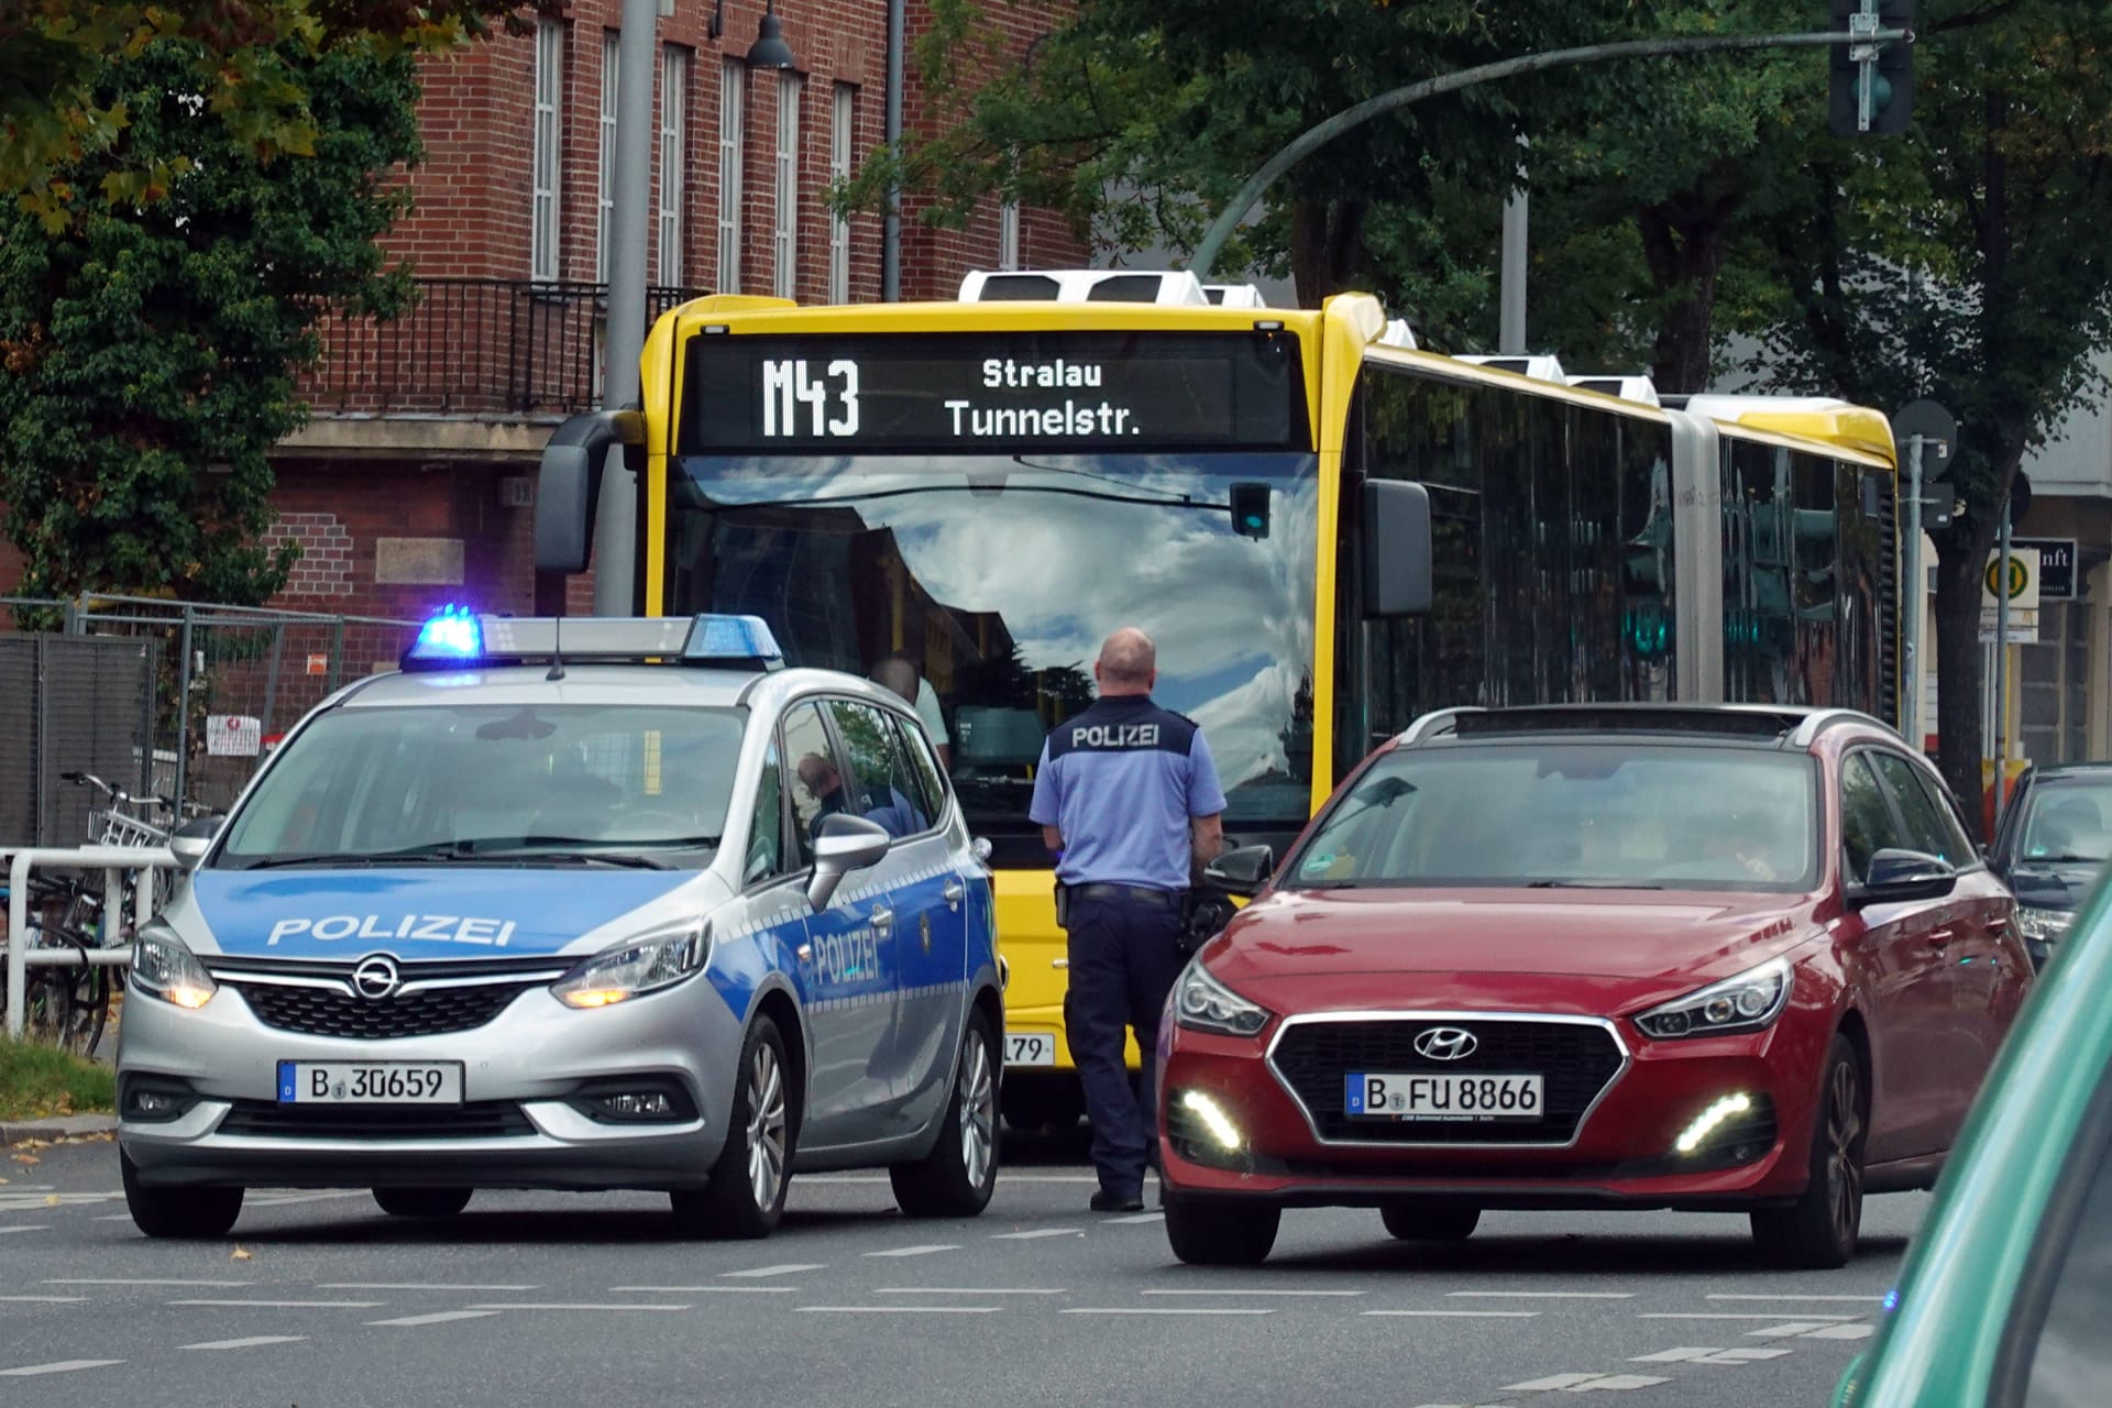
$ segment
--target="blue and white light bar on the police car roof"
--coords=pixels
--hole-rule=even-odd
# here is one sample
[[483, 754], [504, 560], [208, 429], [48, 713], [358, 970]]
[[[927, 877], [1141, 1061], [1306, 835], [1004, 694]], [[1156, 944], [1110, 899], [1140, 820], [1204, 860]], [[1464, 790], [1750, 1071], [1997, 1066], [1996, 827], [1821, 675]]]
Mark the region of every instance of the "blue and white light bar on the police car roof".
[[448, 606], [418, 631], [403, 669], [553, 659], [777, 669], [784, 652], [760, 616], [475, 616]]

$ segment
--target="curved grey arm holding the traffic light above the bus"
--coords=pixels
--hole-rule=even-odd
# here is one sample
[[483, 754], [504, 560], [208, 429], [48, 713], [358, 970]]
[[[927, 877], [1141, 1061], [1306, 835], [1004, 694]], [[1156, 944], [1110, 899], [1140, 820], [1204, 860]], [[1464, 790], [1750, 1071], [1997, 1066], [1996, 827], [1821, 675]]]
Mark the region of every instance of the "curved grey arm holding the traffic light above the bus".
[[1217, 220], [1210, 222], [1210, 228], [1195, 245], [1195, 258], [1189, 260], [1189, 268], [1198, 279], [1210, 277], [1210, 266], [1217, 264], [1217, 255], [1225, 249], [1225, 241], [1231, 239], [1231, 232], [1242, 220], [1246, 220], [1246, 211], [1255, 209], [1255, 201], [1259, 201], [1284, 171], [1299, 165], [1305, 156], [1320, 150], [1335, 137], [1356, 131], [1364, 122], [1385, 116], [1388, 112], [1411, 108], [1426, 97], [1457, 93], [1459, 89], [1472, 89], [1497, 78], [1516, 78], [1519, 74], [1538, 74], [1550, 68], [1576, 68], [1578, 63], [1605, 63], [1611, 59], [1666, 59], [1679, 55], [1736, 53], [1751, 49], [1829, 49], [1833, 44], [1886, 44], [1892, 40], [1911, 44], [1913, 32], [1873, 30], [1867, 34], [1850, 34], [1846, 30], [1827, 30], [1821, 34], [1687, 34], [1662, 40], [1620, 40], [1614, 44], [1582, 44], [1578, 49], [1548, 49], [1544, 53], [1497, 59], [1495, 63], [1478, 63], [1474, 68], [1462, 68], [1453, 74], [1438, 74], [1436, 78], [1411, 82], [1394, 89], [1392, 93], [1366, 97], [1356, 108], [1345, 108], [1322, 122], [1314, 122], [1303, 133], [1293, 137], [1282, 152], [1271, 156], [1261, 171], [1246, 179], [1246, 186], [1240, 186], [1238, 194], [1225, 205], [1223, 211], [1219, 211]]

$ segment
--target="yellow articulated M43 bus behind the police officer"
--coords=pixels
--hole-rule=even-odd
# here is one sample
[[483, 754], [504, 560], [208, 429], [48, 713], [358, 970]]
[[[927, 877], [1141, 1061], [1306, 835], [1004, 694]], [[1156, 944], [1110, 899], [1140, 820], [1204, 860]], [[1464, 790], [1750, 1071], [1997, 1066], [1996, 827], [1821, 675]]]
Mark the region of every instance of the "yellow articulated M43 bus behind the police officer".
[[1897, 695], [1880, 414], [1440, 357], [1362, 293], [1286, 310], [1185, 272], [1060, 270], [972, 274], [948, 304], [695, 300], [646, 340], [642, 410], [553, 435], [543, 570], [587, 566], [619, 448], [634, 610], [762, 616], [794, 665], [921, 667], [991, 842], [1016, 1127], [1081, 1110], [1026, 804], [1115, 627], [1157, 642], [1159, 703], [1204, 726], [1227, 838], [1278, 853], [1426, 709], [1890, 718]]

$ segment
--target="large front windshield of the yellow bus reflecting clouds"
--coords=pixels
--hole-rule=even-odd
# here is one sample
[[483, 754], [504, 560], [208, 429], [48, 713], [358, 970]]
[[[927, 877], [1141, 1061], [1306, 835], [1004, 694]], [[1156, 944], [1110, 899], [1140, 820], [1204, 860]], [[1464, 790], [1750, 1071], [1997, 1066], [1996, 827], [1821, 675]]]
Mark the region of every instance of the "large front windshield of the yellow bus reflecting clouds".
[[790, 665], [906, 652], [999, 863], [1048, 861], [1005, 838], [1039, 836], [1041, 741], [1124, 625], [1157, 644], [1157, 703], [1204, 726], [1227, 821], [1303, 825], [1316, 456], [682, 456], [667, 479], [665, 608], [758, 614]]

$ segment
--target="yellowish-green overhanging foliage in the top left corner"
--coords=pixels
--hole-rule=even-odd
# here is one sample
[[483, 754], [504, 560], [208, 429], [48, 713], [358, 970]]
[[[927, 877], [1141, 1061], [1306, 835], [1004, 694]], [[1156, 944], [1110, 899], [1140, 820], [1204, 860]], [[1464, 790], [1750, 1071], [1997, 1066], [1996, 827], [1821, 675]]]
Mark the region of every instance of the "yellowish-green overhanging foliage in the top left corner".
[[112, 152], [137, 114], [101, 93], [110, 59], [182, 40], [165, 51], [188, 57], [173, 82], [232, 141], [260, 160], [308, 156], [321, 133], [306, 89], [317, 59], [444, 51], [492, 21], [520, 30], [536, 8], [558, 13], [562, 0], [0, 0], [0, 196], [61, 230], [95, 205], [158, 201], [184, 175], [188, 154], [135, 146], [135, 160], [99, 163], [95, 186], [80, 184], [76, 163]]

